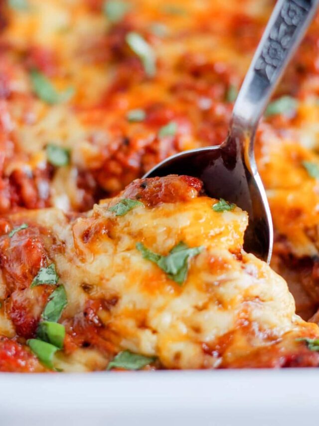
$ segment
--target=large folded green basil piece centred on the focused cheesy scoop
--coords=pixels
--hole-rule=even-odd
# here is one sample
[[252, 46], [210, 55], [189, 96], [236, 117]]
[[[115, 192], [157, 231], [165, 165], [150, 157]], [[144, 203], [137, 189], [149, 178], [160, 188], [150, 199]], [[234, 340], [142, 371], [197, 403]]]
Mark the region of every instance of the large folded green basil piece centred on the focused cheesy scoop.
[[188, 259], [197, 256], [204, 247], [188, 248], [181, 241], [170, 250], [167, 256], [154, 253], [142, 243], [137, 243], [136, 248], [142, 253], [144, 259], [156, 263], [167, 274], [168, 278], [181, 285], [187, 276]]

